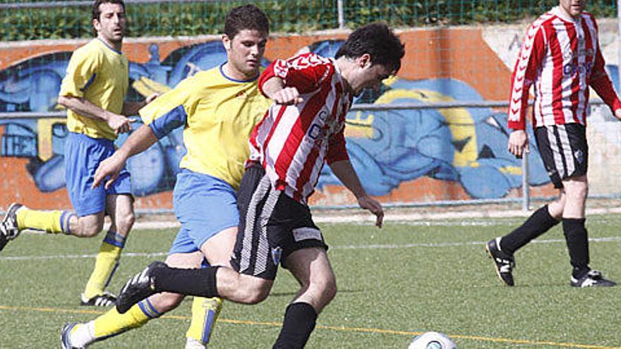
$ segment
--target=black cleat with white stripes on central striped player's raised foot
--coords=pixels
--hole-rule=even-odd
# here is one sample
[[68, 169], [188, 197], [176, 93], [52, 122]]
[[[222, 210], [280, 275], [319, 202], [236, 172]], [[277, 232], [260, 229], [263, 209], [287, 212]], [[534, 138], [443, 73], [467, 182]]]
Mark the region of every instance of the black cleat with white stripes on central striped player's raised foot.
[[119, 292], [116, 298], [116, 310], [120, 314], [125, 314], [133, 305], [140, 302], [152, 294], [155, 294], [155, 279], [153, 271], [158, 268], [166, 267], [164, 262], [152, 262], [143, 271], [131, 278]]

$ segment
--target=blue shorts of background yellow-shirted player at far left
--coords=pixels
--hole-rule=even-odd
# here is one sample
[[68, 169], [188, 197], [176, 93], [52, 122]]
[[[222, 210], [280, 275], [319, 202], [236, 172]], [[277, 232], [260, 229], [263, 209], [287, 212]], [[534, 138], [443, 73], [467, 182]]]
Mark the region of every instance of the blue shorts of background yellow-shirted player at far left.
[[104, 189], [103, 183], [91, 188], [97, 167], [114, 154], [114, 150], [111, 140], [69, 133], [65, 142], [65, 178], [69, 200], [78, 217], [104, 211], [107, 195], [131, 195], [131, 180], [126, 168], [110, 188]]

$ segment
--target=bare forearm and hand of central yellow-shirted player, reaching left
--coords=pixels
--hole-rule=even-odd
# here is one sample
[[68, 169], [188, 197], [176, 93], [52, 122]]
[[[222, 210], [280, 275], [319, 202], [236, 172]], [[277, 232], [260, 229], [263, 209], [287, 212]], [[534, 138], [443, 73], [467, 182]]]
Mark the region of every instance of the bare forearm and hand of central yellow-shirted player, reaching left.
[[157, 137], [151, 128], [142, 125], [138, 130], [132, 133], [123, 145], [112, 154], [111, 157], [101, 162], [93, 176], [92, 188], [97, 188], [105, 180], [105, 188], [108, 189], [116, 177], [119, 176], [121, 170], [125, 166], [127, 159], [135, 154], [144, 152], [150, 146], [157, 142]]

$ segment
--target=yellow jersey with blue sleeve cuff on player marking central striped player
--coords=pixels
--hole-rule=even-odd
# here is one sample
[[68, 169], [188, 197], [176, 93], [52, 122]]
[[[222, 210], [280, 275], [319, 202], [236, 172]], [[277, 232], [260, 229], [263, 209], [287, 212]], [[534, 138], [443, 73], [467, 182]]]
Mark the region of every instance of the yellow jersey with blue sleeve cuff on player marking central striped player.
[[239, 188], [248, 159], [248, 137], [270, 106], [257, 80], [232, 80], [222, 66], [196, 73], [140, 109], [158, 138], [184, 125], [187, 153], [179, 167]]

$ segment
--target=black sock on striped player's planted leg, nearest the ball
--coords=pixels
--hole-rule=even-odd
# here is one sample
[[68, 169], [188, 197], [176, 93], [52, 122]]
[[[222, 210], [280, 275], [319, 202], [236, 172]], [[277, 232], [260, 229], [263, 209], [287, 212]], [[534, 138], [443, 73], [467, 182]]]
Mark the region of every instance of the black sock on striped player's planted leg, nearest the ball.
[[315, 329], [317, 312], [308, 303], [292, 303], [284, 312], [282, 329], [274, 343], [274, 349], [304, 348], [310, 332]]

